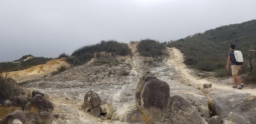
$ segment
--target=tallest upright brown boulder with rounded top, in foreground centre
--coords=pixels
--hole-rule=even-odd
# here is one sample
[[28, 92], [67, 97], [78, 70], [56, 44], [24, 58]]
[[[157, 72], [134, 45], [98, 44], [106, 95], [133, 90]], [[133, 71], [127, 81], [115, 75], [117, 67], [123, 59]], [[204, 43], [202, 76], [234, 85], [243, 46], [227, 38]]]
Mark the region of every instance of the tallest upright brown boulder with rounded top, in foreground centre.
[[168, 109], [170, 87], [156, 77], [140, 78], [136, 90], [136, 106], [151, 122], [162, 122]]

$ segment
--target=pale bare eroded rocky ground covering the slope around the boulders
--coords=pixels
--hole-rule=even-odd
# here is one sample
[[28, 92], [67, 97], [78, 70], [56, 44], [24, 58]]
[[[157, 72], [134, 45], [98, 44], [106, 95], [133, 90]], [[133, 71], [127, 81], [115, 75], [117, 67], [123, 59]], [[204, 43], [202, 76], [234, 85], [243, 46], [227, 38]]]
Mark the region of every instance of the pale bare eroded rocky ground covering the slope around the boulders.
[[[183, 63], [183, 55], [176, 48], [166, 48], [168, 55], [160, 61], [140, 56], [136, 43], [129, 43], [128, 46], [132, 54], [116, 56], [119, 61], [116, 65], [97, 63], [93, 59], [57, 75], [35, 75], [22, 87], [48, 96], [54, 105], [54, 114], [58, 115], [53, 124], [146, 123], [135, 102], [136, 87], [144, 75], [165, 81], [170, 87], [170, 96], [182, 96], [191, 104], [188, 112], [183, 113], [183, 116], [191, 116], [189, 122], [208, 124], [212, 116], [219, 115], [222, 116], [222, 124], [256, 123], [255, 89], [232, 89], [230, 79], [219, 81], [195, 76], [194, 71]], [[212, 87], [204, 89], [205, 83], [212, 83]], [[110, 113], [96, 117], [84, 110], [82, 105], [88, 91], [96, 92], [102, 103], [109, 105], [111, 118], [106, 118], [106, 114]], [[183, 116], [179, 117], [184, 120], [180, 123], [186, 124], [187, 118]]]

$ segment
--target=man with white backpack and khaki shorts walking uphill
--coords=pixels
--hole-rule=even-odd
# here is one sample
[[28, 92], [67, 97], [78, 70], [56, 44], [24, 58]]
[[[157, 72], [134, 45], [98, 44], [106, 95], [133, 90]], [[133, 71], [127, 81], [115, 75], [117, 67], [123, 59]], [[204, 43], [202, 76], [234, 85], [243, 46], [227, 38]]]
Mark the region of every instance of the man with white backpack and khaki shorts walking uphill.
[[[226, 68], [227, 70], [229, 70], [229, 63], [231, 61], [231, 70], [232, 70], [232, 75], [233, 75], [233, 82], [234, 82], [234, 86], [233, 88], [238, 88], [238, 89], [242, 89], [245, 87], [245, 85], [242, 83], [240, 77], [238, 77], [238, 71], [242, 71], [241, 66], [242, 66], [242, 62], [237, 62], [234, 52], [236, 51], [236, 45], [231, 43], [229, 45], [230, 51], [228, 52], [228, 60], [227, 60], [227, 65]], [[239, 51], [240, 52], [240, 51]], [[242, 56], [242, 53], [240, 52], [240, 55]], [[239, 55], [238, 55], [239, 56]], [[239, 83], [239, 87], [236, 86], [236, 82]]]

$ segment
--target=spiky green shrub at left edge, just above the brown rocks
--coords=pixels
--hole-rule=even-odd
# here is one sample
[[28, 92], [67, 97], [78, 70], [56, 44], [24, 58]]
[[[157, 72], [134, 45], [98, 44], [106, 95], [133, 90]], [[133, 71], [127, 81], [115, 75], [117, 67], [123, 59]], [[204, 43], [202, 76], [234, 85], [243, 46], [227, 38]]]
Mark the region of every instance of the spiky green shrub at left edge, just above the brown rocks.
[[8, 76], [0, 74], [0, 104], [20, 93], [20, 87]]

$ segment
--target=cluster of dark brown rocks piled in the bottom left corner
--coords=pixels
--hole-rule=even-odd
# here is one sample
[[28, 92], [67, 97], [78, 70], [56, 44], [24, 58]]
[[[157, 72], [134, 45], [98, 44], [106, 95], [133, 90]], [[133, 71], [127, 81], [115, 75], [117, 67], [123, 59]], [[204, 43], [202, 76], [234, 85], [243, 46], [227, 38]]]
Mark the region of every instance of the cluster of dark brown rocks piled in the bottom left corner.
[[[24, 93], [27, 94], [27, 93]], [[0, 106], [0, 124], [52, 124], [54, 106], [39, 91], [29, 96], [19, 95]]]

